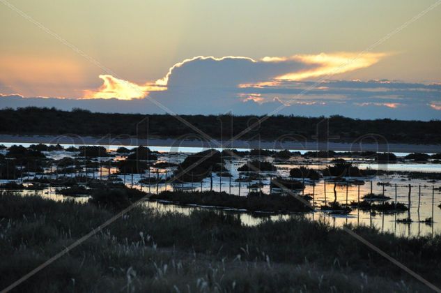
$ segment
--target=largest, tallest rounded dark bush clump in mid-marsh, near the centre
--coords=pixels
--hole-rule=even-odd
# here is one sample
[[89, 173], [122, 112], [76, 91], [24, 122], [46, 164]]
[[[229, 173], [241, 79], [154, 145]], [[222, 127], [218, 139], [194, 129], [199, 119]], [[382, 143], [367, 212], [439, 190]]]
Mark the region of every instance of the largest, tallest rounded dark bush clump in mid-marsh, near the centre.
[[176, 181], [199, 182], [206, 178], [210, 172], [226, 171], [224, 159], [220, 151], [208, 149], [187, 156], [187, 158], [178, 165], [174, 175]]

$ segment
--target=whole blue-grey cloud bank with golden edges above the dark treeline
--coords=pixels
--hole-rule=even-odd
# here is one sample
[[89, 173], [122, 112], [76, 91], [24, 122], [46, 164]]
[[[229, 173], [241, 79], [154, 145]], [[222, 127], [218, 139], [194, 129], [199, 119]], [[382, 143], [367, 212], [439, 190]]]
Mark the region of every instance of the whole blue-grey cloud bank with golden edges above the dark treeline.
[[171, 66], [164, 77], [144, 84], [100, 75], [101, 87], [84, 91], [80, 100], [5, 96], [0, 97], [0, 106], [82, 107], [97, 112], [146, 114], [261, 115], [277, 109], [276, 114], [302, 116], [440, 119], [441, 84], [335, 79], [316, 84], [316, 78], [372, 66], [386, 56], [194, 57]]

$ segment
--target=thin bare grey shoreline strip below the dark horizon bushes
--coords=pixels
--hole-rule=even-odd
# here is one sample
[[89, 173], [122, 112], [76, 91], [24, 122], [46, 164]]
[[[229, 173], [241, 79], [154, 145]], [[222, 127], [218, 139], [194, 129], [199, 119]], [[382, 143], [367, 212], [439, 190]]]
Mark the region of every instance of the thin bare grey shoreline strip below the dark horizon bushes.
[[[171, 151], [178, 151], [179, 147], [220, 147], [219, 141], [176, 140], [172, 138], [137, 137], [110, 138], [92, 136], [54, 136], [54, 135], [0, 135], [1, 143], [29, 143], [29, 144], [99, 144], [102, 146], [136, 146], [170, 147]], [[291, 149], [305, 151], [380, 151], [394, 153], [441, 153], [441, 145], [437, 144], [349, 144], [345, 142], [268, 142], [257, 140], [235, 140], [231, 144], [224, 142], [225, 149]]]

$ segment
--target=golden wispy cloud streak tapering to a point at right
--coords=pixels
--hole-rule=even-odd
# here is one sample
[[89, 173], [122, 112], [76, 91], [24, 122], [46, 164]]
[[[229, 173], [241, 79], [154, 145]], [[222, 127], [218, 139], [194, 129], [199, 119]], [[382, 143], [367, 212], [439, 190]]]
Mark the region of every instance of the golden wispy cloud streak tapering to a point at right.
[[[349, 71], [366, 68], [377, 63], [386, 53], [333, 53], [333, 54], [316, 54], [316, 55], [295, 55], [286, 59], [277, 57], [277, 62], [293, 60], [310, 65], [316, 65], [316, 68], [308, 70], [300, 70], [295, 73], [288, 73], [275, 77], [276, 80], [299, 81], [306, 80], [311, 77], [321, 77], [325, 75], [336, 75], [347, 73]], [[274, 57], [265, 57], [262, 61], [274, 62]]]

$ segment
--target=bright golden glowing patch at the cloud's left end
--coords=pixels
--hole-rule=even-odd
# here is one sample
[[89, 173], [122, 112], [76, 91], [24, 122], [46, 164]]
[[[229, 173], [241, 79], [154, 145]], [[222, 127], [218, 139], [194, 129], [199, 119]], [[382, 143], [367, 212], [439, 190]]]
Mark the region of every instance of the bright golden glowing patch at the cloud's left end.
[[144, 98], [150, 91], [164, 91], [167, 88], [155, 84], [139, 85], [127, 80], [120, 80], [112, 75], [100, 75], [104, 81], [102, 86], [96, 91], [84, 91], [84, 98], [117, 98], [118, 100], [132, 100], [134, 98]]

